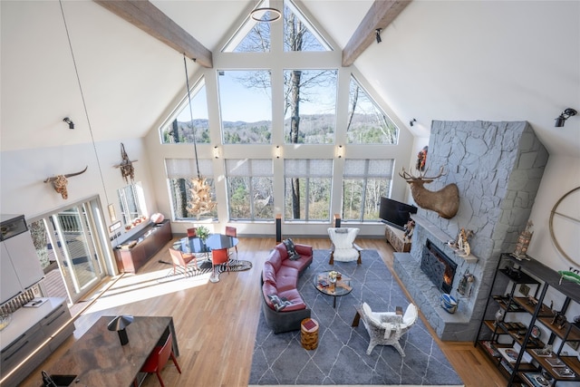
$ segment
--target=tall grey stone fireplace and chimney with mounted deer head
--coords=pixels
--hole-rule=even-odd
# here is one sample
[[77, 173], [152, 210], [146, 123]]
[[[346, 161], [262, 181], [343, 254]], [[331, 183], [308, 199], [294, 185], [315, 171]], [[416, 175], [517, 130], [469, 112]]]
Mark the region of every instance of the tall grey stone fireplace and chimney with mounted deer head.
[[[435, 191], [457, 184], [459, 211], [454, 218], [444, 219], [419, 208], [413, 216], [411, 251], [395, 253], [393, 269], [440, 339], [475, 338], [499, 255], [513, 251], [526, 227], [547, 159], [546, 148], [526, 121], [433, 121], [427, 176], [440, 167], [445, 175], [425, 187]], [[474, 232], [469, 256], [459, 256], [448, 244], [461, 228]], [[421, 268], [425, 249], [456, 265], [448, 287]], [[430, 266], [439, 276], [440, 264]], [[459, 281], [467, 275], [475, 281], [458, 292]], [[458, 300], [455, 314], [440, 306], [442, 293]]]

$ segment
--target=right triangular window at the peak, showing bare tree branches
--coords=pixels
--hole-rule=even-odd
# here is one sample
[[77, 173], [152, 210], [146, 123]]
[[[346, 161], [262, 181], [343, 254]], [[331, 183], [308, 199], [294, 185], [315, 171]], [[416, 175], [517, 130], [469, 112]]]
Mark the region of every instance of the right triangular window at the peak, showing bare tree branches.
[[333, 51], [291, 1], [284, 2], [284, 51]]

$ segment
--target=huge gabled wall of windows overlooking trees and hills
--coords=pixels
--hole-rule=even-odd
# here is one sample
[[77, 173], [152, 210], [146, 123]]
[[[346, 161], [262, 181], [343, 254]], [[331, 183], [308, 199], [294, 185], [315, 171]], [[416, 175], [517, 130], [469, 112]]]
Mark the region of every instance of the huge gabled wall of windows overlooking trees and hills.
[[[160, 142], [171, 218], [257, 225], [283, 214], [287, 224], [325, 225], [339, 214], [378, 224], [380, 197], [392, 196], [393, 170], [408, 164], [411, 136], [403, 130], [401, 145], [388, 105], [369, 82], [341, 66], [341, 51], [319, 26], [284, 4], [284, 21], [241, 20], [214, 51], [214, 68], [190, 76], [191, 113], [185, 89], [169, 107]], [[183, 209], [196, 164], [218, 202], [202, 216]]]

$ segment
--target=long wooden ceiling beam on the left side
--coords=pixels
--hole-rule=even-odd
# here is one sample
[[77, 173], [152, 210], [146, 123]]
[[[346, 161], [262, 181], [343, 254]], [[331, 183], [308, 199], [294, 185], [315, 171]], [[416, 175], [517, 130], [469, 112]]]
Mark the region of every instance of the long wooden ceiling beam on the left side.
[[149, 1], [143, 0], [93, 0], [129, 23], [169, 45], [179, 53], [185, 53], [199, 65], [213, 67], [211, 51], [181, 28], [168, 15]]

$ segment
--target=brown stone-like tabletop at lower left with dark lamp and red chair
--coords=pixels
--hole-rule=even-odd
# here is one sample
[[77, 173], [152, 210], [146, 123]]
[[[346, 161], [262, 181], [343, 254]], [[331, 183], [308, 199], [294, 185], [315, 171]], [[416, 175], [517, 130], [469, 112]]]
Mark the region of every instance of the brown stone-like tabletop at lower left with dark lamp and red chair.
[[[167, 331], [173, 336], [173, 353], [179, 348], [173, 318], [135, 316], [127, 326], [129, 343], [107, 325], [114, 316], [102, 316], [63, 357], [50, 368], [51, 375], [76, 375], [73, 385], [91, 387], [131, 386], [141, 367]], [[40, 373], [39, 373], [40, 380]]]

